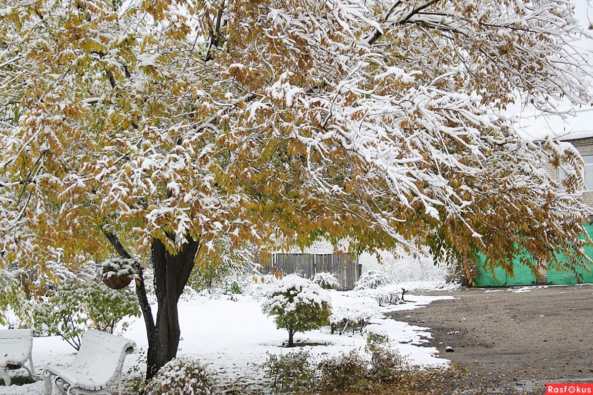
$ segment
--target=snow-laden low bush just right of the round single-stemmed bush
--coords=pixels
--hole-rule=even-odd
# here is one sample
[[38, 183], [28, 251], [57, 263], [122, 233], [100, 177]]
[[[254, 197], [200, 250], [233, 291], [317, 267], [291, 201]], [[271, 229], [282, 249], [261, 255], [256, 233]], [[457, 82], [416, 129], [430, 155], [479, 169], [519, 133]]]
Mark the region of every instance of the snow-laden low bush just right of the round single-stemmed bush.
[[331, 333], [337, 330], [342, 335], [346, 330], [364, 328], [379, 310], [379, 304], [370, 297], [350, 297], [331, 294]]

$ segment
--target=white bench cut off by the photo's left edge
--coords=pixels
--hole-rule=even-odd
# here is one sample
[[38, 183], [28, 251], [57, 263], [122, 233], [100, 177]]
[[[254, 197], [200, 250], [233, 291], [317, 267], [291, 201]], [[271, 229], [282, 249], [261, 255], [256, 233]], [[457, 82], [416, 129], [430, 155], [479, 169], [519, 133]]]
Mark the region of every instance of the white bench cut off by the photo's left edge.
[[[3, 329], [0, 330], [0, 374], [4, 378], [4, 385], [10, 385], [9, 370], [26, 369], [31, 377], [36, 378], [33, 369], [33, 329]], [[25, 364], [29, 362], [29, 369]]]

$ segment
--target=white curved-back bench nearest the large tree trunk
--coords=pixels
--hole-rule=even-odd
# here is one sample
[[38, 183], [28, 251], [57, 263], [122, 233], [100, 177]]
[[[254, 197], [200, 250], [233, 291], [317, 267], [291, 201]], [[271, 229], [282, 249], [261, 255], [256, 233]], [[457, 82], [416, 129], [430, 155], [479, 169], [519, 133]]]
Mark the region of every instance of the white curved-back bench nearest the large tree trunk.
[[126, 354], [134, 352], [136, 342], [98, 330], [87, 330], [72, 362], [49, 364], [42, 373], [45, 393], [52, 383], [62, 394], [110, 395], [109, 386], [117, 380], [122, 394], [122, 368]]

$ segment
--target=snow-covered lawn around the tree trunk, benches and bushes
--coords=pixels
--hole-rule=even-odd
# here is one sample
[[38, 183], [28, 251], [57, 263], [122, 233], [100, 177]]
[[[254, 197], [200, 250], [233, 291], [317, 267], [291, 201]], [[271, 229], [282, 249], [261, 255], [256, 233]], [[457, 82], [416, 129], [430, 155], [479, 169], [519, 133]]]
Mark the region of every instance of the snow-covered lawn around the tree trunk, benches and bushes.
[[[332, 303], [335, 307], [343, 303], [356, 304], [356, 297], [345, 297], [345, 293], [332, 291]], [[381, 332], [389, 336], [401, 354], [407, 355], [412, 364], [424, 367], [446, 366], [448, 361], [438, 357], [433, 347], [422, 346], [431, 337], [428, 328], [398, 322], [384, 316], [390, 310], [415, 309], [433, 300], [451, 298], [450, 296], [414, 296], [406, 294], [409, 303], [383, 306], [371, 319], [372, 332]], [[368, 298], [365, 298], [368, 303]], [[219, 372], [219, 381], [240, 380], [244, 383], [257, 383], [262, 378], [262, 370], [257, 366], [264, 362], [267, 353], [289, 352], [282, 347], [288, 338], [285, 330], [276, 329], [272, 318], [265, 316], [259, 301], [242, 298], [238, 301], [215, 298], [195, 298], [184, 301], [179, 306], [181, 324], [181, 342], [179, 355], [195, 357], [211, 365]], [[125, 378], [144, 372], [146, 333], [142, 319], [132, 323], [124, 334], [134, 339], [139, 352], [126, 359], [123, 370]], [[302, 349], [313, 355], [335, 355], [362, 349], [365, 337], [357, 330], [344, 335], [331, 335], [328, 328], [305, 333], [297, 333], [295, 342], [311, 343]], [[74, 349], [57, 337], [36, 338], [33, 345], [33, 361], [39, 373], [47, 362], [63, 362], [73, 358]], [[140, 370], [128, 374], [130, 368], [138, 365]], [[24, 371], [23, 371], [24, 372]], [[6, 395], [41, 395], [42, 382], [25, 386], [0, 387], [0, 393]]]

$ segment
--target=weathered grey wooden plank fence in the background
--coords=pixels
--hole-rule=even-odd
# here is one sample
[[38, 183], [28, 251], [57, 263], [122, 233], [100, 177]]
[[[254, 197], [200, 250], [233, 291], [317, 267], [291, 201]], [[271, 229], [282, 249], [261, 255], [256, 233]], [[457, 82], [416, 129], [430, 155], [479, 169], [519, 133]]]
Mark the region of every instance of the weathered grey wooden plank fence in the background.
[[[259, 263], [263, 266], [263, 262]], [[362, 265], [358, 263], [358, 255], [355, 253], [275, 253], [261, 272], [270, 274], [272, 268], [283, 275], [296, 273], [304, 278], [313, 278], [318, 272], [329, 272], [336, 276], [343, 291], [352, 290], [362, 272]]]

